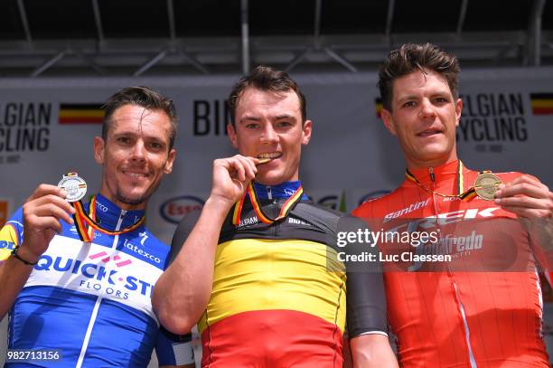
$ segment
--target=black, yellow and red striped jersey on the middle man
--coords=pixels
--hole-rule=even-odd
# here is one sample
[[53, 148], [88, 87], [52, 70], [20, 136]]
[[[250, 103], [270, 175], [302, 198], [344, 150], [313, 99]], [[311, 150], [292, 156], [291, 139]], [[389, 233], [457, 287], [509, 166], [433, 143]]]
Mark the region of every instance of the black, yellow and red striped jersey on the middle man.
[[[346, 284], [348, 313], [358, 316], [350, 329], [355, 335], [386, 334], [380, 269], [356, 283], [356, 275], [346, 274], [336, 261], [336, 231], [350, 216], [304, 196], [280, 220], [260, 219], [261, 212], [277, 218], [299, 186], [255, 183], [258, 202], [250, 198], [239, 216], [231, 211], [224, 222], [211, 298], [198, 323], [202, 366], [342, 367]], [[172, 259], [198, 216], [191, 214], [179, 225]], [[364, 227], [357, 219], [351, 222]], [[362, 292], [356, 295], [355, 288]]]

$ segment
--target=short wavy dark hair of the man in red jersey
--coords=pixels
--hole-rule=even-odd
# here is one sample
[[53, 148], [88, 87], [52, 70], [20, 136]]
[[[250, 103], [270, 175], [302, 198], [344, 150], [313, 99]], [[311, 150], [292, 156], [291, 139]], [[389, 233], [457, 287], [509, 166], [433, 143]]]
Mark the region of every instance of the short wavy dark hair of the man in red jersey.
[[432, 43], [406, 43], [392, 50], [379, 71], [379, 90], [384, 109], [391, 111], [394, 80], [413, 71], [435, 71], [447, 80], [449, 90], [458, 99], [459, 61]]

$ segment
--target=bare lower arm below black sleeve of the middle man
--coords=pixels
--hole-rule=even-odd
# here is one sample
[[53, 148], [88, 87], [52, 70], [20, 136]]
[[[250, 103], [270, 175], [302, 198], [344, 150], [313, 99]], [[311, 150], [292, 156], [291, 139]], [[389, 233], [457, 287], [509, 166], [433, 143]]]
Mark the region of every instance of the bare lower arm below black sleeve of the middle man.
[[350, 346], [354, 368], [398, 366], [396, 355], [389, 346], [387, 335], [359, 335], [350, 340]]

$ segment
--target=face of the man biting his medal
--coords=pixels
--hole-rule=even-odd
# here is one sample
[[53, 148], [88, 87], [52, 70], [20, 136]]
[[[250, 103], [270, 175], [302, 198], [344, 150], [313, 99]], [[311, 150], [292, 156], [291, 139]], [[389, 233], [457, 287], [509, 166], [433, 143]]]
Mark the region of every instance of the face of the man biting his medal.
[[248, 88], [239, 97], [236, 127], [227, 127], [232, 146], [242, 156], [271, 158], [258, 165], [256, 181], [266, 185], [298, 180], [302, 145], [309, 143], [312, 123], [302, 126], [300, 102], [293, 90], [271, 92]]

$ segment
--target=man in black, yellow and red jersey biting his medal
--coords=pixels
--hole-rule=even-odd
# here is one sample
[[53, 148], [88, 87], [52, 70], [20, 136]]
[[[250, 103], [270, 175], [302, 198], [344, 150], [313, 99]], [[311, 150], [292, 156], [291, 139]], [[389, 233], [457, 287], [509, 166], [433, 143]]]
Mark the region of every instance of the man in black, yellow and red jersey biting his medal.
[[239, 155], [215, 160], [202, 212], [175, 232], [182, 249], [153, 296], [160, 321], [177, 334], [198, 323], [203, 366], [342, 367], [347, 289], [354, 362], [397, 366], [380, 270], [346, 275], [336, 260], [337, 232], [364, 224], [303, 193], [313, 124], [295, 81], [258, 67], [230, 93], [230, 112]]

